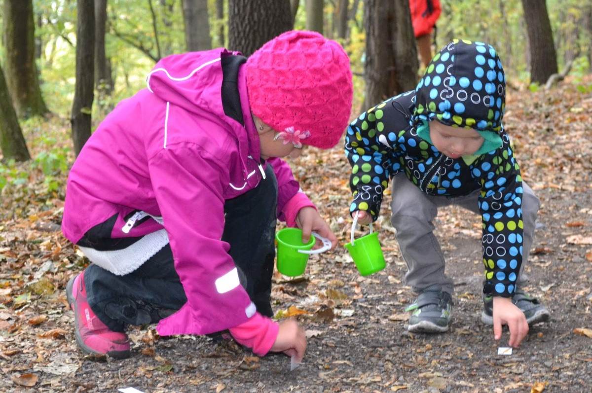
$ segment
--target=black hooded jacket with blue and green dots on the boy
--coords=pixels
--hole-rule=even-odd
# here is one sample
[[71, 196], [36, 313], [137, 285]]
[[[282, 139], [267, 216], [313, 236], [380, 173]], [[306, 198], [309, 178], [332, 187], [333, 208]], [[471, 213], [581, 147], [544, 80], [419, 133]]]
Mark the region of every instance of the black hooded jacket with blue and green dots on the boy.
[[[367, 211], [373, 220], [382, 192], [400, 172], [429, 195], [480, 189], [484, 291], [510, 297], [522, 264], [522, 177], [502, 126], [505, 94], [493, 47], [454, 40], [436, 54], [414, 91], [375, 105], [350, 124], [345, 152], [352, 166], [350, 212]], [[451, 159], [418, 136], [423, 121], [494, 131], [503, 144], [470, 163]]]

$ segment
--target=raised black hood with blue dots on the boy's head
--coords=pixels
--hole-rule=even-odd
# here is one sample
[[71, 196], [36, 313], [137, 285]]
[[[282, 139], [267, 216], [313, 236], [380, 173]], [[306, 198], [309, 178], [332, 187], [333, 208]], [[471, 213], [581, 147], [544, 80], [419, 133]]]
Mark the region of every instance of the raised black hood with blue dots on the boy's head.
[[451, 126], [501, 133], [506, 77], [493, 46], [453, 40], [433, 57], [416, 88], [411, 123], [434, 119]]

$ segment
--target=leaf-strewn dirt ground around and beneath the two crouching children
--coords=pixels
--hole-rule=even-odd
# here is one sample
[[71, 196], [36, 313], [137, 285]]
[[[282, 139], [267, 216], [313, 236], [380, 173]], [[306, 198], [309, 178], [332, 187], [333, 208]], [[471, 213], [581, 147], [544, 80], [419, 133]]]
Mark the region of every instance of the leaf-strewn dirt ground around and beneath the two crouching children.
[[[451, 331], [405, 330], [404, 308], [414, 295], [401, 282], [406, 268], [385, 219], [377, 225], [387, 256], [381, 272], [362, 278], [339, 247], [313, 257], [304, 279], [275, 276], [274, 310], [303, 312], [298, 319], [310, 336], [305, 362], [292, 372], [283, 355], [259, 359], [233, 342], [206, 337], [159, 338], [153, 326], [131, 331], [130, 359], [83, 357], [63, 297], [82, 260], [56, 227], [31, 234], [27, 222], [17, 221], [0, 227], [0, 391], [528, 392], [539, 383], [545, 392], [591, 392], [592, 338], [574, 328], [592, 328], [592, 127], [578, 121], [590, 119], [592, 99], [573, 89], [556, 93], [553, 100], [538, 94], [509, 104], [517, 156], [542, 201], [525, 289], [552, 314], [512, 355], [497, 355], [507, 332], [496, 343], [480, 322], [480, 219], [458, 208], [440, 212], [436, 233], [456, 284]], [[559, 113], [555, 123], [546, 112]], [[342, 152], [310, 152], [295, 167], [345, 243], [350, 222], [339, 218], [349, 201]], [[59, 218], [56, 209], [41, 221], [58, 224]]]

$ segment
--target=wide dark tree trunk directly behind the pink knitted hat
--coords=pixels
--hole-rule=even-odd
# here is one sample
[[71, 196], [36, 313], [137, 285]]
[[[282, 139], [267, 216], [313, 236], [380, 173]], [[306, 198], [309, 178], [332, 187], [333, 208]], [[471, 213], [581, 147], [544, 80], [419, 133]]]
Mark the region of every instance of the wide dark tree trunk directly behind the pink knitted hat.
[[292, 28], [289, 0], [229, 0], [228, 47], [250, 56]]

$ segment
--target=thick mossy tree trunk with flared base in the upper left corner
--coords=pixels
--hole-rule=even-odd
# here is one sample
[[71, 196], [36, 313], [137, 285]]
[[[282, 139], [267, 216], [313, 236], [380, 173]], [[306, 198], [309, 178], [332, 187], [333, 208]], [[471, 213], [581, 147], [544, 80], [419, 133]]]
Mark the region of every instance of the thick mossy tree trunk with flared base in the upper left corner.
[[6, 82], [20, 117], [44, 115], [49, 110], [41, 96], [35, 65], [33, 0], [4, 0]]

